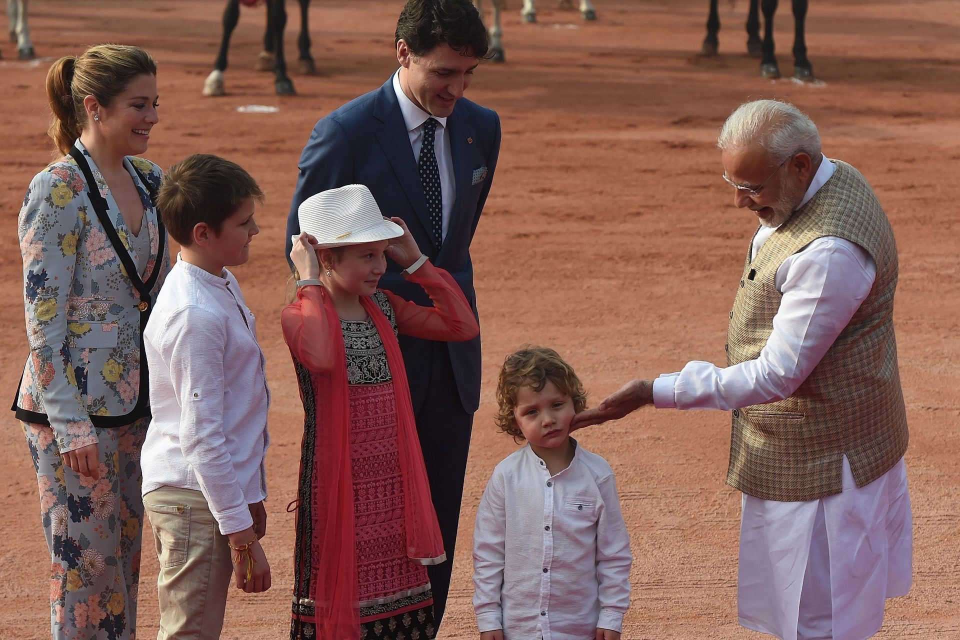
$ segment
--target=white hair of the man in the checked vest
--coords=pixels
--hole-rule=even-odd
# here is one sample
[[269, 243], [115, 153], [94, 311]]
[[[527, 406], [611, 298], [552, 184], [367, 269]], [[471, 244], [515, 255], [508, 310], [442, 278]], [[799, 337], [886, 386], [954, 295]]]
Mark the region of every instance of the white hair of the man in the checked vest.
[[783, 162], [804, 152], [820, 157], [820, 133], [799, 108], [780, 100], [754, 100], [733, 110], [717, 138], [722, 151], [737, 151], [758, 145], [771, 163]]

